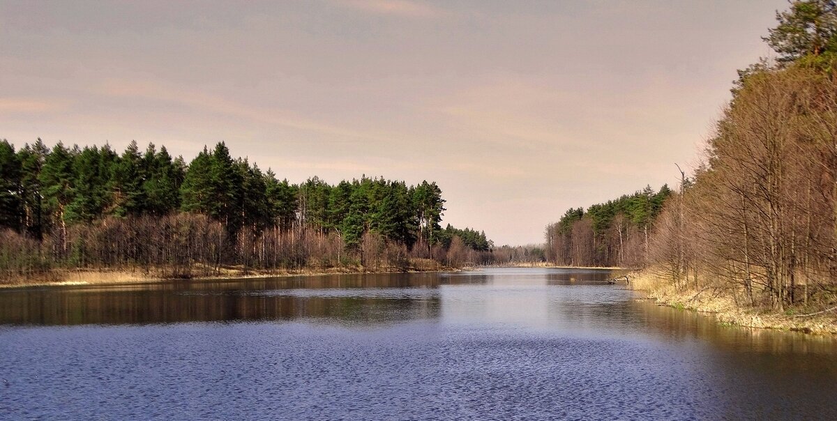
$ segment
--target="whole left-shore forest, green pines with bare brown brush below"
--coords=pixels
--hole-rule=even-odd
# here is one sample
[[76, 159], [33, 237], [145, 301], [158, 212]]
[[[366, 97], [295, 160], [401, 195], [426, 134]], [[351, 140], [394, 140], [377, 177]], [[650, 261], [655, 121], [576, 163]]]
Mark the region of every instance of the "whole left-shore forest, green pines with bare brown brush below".
[[16, 151], [3, 140], [0, 176], [8, 278], [129, 266], [175, 277], [229, 266], [406, 270], [416, 260], [477, 263], [493, 247], [485, 233], [440, 227], [445, 201], [434, 182], [291, 184], [234, 159], [223, 142], [187, 164], [152, 144], [117, 154], [40, 139]]

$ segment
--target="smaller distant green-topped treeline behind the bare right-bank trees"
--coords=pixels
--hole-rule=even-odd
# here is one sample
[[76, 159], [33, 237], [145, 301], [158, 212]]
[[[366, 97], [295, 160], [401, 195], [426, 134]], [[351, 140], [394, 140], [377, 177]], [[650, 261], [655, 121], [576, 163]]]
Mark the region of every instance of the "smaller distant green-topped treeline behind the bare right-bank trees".
[[649, 249], [650, 228], [660, 215], [668, 186], [584, 208], [571, 208], [547, 225], [545, 259], [568, 266], [639, 267]]

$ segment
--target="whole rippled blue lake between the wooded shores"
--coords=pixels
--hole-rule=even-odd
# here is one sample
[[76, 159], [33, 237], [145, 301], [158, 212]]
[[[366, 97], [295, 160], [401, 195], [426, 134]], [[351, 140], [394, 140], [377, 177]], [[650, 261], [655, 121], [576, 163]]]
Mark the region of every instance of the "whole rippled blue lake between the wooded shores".
[[837, 341], [608, 270], [0, 290], [2, 419], [837, 419]]

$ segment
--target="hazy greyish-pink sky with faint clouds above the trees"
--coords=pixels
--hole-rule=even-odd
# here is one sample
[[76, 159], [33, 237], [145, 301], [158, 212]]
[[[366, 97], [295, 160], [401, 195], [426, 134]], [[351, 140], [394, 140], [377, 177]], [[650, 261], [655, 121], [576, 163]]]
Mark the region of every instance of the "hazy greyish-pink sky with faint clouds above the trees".
[[496, 244], [694, 168], [785, 0], [0, 0], [0, 138], [435, 181]]

